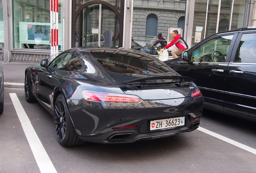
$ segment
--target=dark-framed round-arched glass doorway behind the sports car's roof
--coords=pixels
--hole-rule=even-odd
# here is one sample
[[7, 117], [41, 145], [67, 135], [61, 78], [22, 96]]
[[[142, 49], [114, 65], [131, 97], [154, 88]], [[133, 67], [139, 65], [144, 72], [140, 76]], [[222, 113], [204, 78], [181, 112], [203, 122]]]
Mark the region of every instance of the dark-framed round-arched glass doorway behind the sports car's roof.
[[72, 1], [72, 47], [122, 47], [124, 0], [86, 1]]

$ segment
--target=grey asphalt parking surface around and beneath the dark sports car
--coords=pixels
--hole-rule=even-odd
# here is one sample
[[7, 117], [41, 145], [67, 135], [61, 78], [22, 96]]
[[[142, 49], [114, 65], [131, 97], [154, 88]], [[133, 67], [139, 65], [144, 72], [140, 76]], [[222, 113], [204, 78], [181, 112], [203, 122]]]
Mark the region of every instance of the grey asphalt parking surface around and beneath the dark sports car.
[[[18, 101], [12, 100], [14, 96]], [[54, 134], [53, 117], [39, 103], [27, 103], [23, 89], [5, 88], [4, 99], [0, 173], [256, 172], [256, 123], [250, 121], [204, 111], [200, 129], [190, 133], [131, 144], [62, 147]], [[21, 107], [15, 110], [17, 104]], [[33, 127], [26, 133], [23, 126], [29, 123], [21, 123], [18, 117], [23, 109]], [[33, 145], [36, 138], [27, 139], [25, 134], [29, 136], [33, 130], [42, 147]], [[42, 159], [42, 149], [49, 160]], [[37, 151], [42, 155], [39, 159], [35, 159]], [[49, 170], [40, 171], [41, 164]]]

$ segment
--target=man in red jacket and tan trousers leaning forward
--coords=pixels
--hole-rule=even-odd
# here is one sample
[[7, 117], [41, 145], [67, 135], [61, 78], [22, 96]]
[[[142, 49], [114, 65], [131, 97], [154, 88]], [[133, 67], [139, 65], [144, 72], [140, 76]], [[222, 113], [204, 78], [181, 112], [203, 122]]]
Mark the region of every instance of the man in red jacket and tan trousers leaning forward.
[[183, 40], [183, 38], [179, 35], [178, 30], [174, 30], [171, 34], [173, 40], [165, 46], [161, 51], [171, 47], [173, 44], [178, 48], [176, 50], [171, 51], [171, 55], [173, 58], [178, 58], [177, 54], [182, 54], [185, 50], [188, 49], [188, 44]]

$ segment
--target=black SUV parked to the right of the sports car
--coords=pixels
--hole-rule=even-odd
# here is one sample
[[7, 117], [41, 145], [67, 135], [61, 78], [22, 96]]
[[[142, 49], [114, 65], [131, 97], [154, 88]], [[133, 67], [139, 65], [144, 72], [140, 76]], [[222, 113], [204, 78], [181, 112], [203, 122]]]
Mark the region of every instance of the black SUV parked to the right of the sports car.
[[256, 121], [256, 27], [214, 34], [165, 63], [195, 79], [204, 108]]

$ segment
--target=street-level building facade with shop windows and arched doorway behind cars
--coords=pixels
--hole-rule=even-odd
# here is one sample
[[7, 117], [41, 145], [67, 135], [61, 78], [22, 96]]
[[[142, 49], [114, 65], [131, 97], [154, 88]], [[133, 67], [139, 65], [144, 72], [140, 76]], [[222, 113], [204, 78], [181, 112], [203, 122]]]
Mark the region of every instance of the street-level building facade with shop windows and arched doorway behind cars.
[[[51, 59], [51, 5], [57, 51], [77, 46], [130, 48], [168, 28], [181, 28], [191, 47], [225, 30], [255, 26], [256, 0], [0, 0], [0, 61]], [[55, 4], [55, 3], [58, 4]]]

